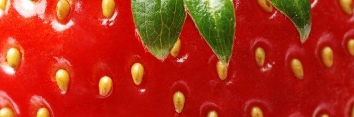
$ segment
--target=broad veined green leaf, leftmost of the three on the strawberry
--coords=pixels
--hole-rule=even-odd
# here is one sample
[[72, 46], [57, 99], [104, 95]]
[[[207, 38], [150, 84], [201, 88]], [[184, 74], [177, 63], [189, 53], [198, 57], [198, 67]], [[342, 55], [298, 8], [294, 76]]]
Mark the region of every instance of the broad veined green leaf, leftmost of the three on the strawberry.
[[145, 47], [165, 59], [186, 20], [183, 0], [131, 0], [134, 23]]

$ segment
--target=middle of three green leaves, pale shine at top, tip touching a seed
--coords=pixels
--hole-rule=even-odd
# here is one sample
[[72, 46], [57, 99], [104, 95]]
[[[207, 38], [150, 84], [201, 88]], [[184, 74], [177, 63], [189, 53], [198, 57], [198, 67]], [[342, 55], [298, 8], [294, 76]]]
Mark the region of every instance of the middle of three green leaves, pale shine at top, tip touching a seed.
[[184, 0], [200, 34], [218, 58], [228, 63], [235, 35], [232, 0]]

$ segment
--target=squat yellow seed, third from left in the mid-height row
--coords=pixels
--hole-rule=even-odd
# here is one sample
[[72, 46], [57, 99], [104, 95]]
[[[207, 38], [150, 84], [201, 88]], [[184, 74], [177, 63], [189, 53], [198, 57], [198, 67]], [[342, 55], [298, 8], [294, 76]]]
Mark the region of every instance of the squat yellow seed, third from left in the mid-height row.
[[99, 95], [106, 96], [112, 90], [112, 79], [108, 76], [103, 76], [98, 83]]

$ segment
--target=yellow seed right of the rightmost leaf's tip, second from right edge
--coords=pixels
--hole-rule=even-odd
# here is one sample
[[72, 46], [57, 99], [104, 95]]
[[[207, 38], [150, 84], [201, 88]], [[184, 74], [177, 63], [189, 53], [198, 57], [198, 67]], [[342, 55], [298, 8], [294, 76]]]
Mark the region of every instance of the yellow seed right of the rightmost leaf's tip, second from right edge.
[[333, 51], [331, 47], [324, 47], [321, 51], [321, 58], [323, 64], [330, 68], [333, 65]]

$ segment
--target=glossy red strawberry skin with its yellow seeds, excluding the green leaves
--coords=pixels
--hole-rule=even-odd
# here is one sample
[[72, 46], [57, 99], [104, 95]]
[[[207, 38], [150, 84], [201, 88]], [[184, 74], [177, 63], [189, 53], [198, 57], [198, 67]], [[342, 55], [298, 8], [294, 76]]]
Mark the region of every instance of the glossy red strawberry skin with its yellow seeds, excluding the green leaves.
[[[221, 80], [188, 14], [178, 54], [161, 61], [142, 45], [130, 0], [0, 0], [0, 116], [353, 117], [353, 7], [343, 7], [352, 2], [310, 0], [312, 29], [301, 43], [289, 18], [258, 1], [233, 0]], [[12, 47], [20, 55], [7, 57]], [[68, 73], [66, 90], [58, 70]]]

